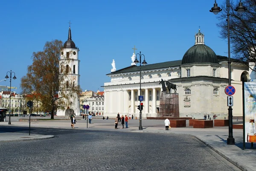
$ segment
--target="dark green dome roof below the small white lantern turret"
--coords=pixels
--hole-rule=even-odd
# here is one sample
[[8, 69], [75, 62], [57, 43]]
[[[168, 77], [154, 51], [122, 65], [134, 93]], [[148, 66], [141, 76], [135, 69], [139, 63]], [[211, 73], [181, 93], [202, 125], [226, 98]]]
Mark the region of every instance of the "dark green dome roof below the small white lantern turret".
[[181, 64], [218, 64], [218, 59], [211, 48], [196, 44], [186, 51]]

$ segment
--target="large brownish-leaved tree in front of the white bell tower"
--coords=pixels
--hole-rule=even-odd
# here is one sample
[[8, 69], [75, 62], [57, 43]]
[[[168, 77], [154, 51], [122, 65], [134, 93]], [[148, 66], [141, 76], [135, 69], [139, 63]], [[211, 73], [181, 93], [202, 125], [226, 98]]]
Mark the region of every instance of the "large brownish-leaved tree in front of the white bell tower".
[[[62, 70], [64, 66], [59, 63], [62, 47], [62, 41], [53, 40], [45, 43], [43, 51], [33, 52], [33, 63], [28, 66], [27, 74], [21, 78], [20, 84], [26, 99], [40, 101], [44, 111], [51, 111], [51, 119], [54, 119], [58, 108], [65, 110], [73, 101], [71, 97], [81, 92], [79, 86], [67, 86], [71, 68], [68, 72]], [[61, 96], [58, 96], [63, 87], [68, 91], [61, 91]]]

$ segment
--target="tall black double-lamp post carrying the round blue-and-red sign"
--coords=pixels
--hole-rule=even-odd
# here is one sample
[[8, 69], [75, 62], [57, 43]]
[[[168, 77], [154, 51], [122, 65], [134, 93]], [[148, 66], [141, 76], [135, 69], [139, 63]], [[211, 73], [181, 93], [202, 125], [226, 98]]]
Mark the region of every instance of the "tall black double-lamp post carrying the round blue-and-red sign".
[[[227, 7], [227, 44], [228, 44], [228, 85], [231, 85], [231, 62], [230, 62], [230, 0], [226, 0], [226, 7]], [[247, 9], [243, 6], [243, 3], [239, 3], [239, 6], [236, 7], [235, 11], [237, 11], [239, 14], [246, 11]], [[218, 4], [215, 3], [210, 10], [210, 12], [213, 12], [214, 14], [218, 14], [218, 12], [221, 12], [222, 9], [218, 7]], [[235, 139], [233, 138], [233, 115], [232, 115], [232, 107], [230, 106], [228, 108], [228, 138], [227, 138], [227, 145], [235, 145]]]

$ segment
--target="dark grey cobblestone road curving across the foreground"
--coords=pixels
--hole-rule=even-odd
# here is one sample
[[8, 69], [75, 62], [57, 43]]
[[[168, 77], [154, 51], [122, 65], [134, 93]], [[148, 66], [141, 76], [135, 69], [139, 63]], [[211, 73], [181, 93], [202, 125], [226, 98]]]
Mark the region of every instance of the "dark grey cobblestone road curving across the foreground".
[[[13, 129], [27, 132], [26, 128]], [[239, 170], [193, 136], [53, 128], [32, 131], [56, 138], [0, 142], [1, 171]]]

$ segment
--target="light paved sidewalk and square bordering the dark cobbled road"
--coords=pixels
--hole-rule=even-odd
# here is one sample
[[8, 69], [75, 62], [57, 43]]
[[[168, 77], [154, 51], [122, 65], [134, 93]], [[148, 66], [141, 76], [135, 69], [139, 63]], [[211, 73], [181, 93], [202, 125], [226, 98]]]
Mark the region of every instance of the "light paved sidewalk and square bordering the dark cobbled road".
[[[54, 124], [52, 123], [54, 122]], [[253, 148], [250, 148], [250, 143], [246, 143], [246, 149], [243, 147], [243, 131], [241, 129], [233, 129], [233, 136], [236, 145], [227, 145], [228, 127], [214, 127], [214, 128], [171, 128], [171, 130], [165, 130], [163, 121], [157, 120], [143, 120], [143, 130], [139, 130], [138, 120], [129, 120], [128, 129], [114, 129], [113, 120], [93, 119], [92, 124], [87, 120], [79, 120], [75, 125], [75, 129], [83, 130], [108, 130], [108, 131], [123, 131], [123, 132], [141, 132], [141, 133], [177, 133], [177, 134], [189, 134], [199, 139], [209, 148], [220, 154], [222, 157], [236, 165], [243, 171], [256, 171], [256, 144]], [[120, 122], [119, 122], [120, 123]], [[121, 128], [121, 124], [118, 128]], [[28, 122], [12, 122], [12, 125], [8, 125], [8, 122], [0, 122], [0, 126], [18, 126], [27, 127]], [[51, 121], [51, 122], [31, 122], [31, 127], [37, 128], [59, 128], [59, 129], [72, 129], [70, 127], [70, 121]], [[28, 138], [29, 137], [29, 138]], [[34, 135], [24, 133], [2, 133], [0, 132], [0, 142], [13, 141], [13, 140], [31, 140], [31, 139], [47, 139], [54, 136]]]

